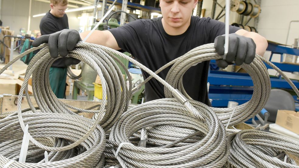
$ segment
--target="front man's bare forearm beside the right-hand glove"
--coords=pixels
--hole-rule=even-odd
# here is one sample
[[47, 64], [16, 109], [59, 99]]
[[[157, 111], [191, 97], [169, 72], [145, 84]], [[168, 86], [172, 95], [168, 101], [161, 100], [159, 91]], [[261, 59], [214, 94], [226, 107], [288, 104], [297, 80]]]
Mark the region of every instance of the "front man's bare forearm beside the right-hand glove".
[[267, 42], [265, 37], [259, 35], [258, 33], [248, 32], [248, 31], [243, 30], [243, 29], [238, 30], [236, 32], [236, 34], [252, 38], [254, 43], [256, 43], [256, 54], [259, 54], [260, 56], [264, 55], [264, 53], [267, 49], [267, 46], [268, 46], [268, 42]]

